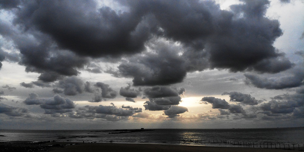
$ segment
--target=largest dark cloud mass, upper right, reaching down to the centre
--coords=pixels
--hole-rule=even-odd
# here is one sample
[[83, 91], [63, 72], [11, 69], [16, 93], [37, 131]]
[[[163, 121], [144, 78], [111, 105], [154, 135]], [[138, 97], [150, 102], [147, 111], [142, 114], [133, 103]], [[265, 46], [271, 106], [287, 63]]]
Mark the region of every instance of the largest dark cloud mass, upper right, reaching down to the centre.
[[134, 85], [173, 84], [181, 82], [187, 72], [208, 68], [277, 73], [293, 66], [272, 46], [282, 30], [277, 20], [264, 17], [267, 0], [244, 1], [231, 6], [232, 12], [220, 10], [212, 1], [127, 3], [131, 11], [153, 14], [158, 23], [157, 34], [183, 46], [152, 40], [150, 46], [157, 44], [150, 47], [152, 53], [120, 64], [120, 75], [133, 77]]

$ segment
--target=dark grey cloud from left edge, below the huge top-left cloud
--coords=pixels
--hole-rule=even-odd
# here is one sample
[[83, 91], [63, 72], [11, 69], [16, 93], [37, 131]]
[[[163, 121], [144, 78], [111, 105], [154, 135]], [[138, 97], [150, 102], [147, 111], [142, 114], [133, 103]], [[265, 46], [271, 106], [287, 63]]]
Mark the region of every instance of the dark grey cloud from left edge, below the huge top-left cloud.
[[[2, 25], [0, 34], [5, 39], [12, 40], [13, 46], [20, 51], [19, 64], [26, 66], [26, 72], [41, 74], [38, 80], [51, 82], [61, 75], [77, 75], [79, 74], [77, 68], [82, 68], [88, 62], [85, 57], [79, 57], [71, 51], [56, 47], [50, 36], [36, 29], [27, 28], [24, 24], [18, 23], [18, 20], [18, 17], [15, 18], [13, 24], [0, 20]], [[9, 60], [12, 59], [7, 57]]]

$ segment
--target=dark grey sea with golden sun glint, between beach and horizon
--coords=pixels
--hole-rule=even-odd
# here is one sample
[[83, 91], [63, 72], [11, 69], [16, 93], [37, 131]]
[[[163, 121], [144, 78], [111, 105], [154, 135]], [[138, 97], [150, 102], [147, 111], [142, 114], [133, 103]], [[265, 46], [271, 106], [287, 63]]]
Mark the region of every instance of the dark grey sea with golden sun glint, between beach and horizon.
[[304, 127], [259, 129], [0, 130], [0, 142], [68, 141], [217, 147], [304, 147]]

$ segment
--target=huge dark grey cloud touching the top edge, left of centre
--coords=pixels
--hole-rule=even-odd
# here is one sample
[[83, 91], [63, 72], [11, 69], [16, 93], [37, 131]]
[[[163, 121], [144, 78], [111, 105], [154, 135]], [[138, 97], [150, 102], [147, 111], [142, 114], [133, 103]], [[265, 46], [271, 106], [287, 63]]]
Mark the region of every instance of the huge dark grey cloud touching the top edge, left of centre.
[[143, 48], [149, 27], [141, 25], [142, 13], [96, 6], [95, 1], [82, 0], [25, 2], [16, 22], [47, 33], [59, 47], [84, 56], [116, 56]]

